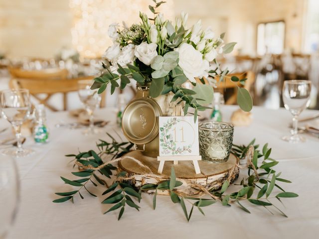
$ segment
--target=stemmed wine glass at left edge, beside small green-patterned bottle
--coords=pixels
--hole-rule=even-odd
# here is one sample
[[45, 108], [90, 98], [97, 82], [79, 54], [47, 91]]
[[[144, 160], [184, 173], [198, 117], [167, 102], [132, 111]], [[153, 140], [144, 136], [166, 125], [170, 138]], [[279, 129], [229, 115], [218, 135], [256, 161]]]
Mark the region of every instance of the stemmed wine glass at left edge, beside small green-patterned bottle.
[[30, 115], [30, 95], [26, 89], [4, 90], [0, 92], [0, 110], [15, 132], [17, 147], [4, 149], [2, 154], [23, 157], [33, 152], [32, 149], [22, 148], [21, 125]]

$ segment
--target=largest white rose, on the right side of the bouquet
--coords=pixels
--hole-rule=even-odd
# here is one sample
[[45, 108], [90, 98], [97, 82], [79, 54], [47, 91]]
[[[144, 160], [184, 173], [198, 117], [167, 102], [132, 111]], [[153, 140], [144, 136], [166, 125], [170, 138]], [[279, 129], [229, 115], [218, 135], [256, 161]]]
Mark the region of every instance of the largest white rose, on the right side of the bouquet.
[[178, 65], [183, 69], [188, 80], [195, 82], [195, 77], [202, 77], [206, 74], [205, 71], [209, 68], [209, 64], [203, 60], [203, 54], [195, 50], [192, 45], [183, 43], [174, 50], [179, 53]]

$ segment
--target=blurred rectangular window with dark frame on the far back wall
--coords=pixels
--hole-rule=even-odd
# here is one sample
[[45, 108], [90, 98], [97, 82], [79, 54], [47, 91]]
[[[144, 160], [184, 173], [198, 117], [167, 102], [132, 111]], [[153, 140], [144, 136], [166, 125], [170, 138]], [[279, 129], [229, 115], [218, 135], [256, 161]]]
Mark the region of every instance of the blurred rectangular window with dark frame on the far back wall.
[[257, 54], [281, 54], [284, 51], [285, 22], [265, 22], [257, 27]]

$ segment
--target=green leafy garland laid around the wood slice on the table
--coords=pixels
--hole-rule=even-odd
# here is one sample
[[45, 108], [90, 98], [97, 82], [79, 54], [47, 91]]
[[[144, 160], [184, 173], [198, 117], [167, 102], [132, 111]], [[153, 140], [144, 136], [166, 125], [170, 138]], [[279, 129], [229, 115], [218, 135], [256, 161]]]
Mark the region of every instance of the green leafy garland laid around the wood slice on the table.
[[[189, 221], [194, 208], [196, 208], [201, 214], [205, 215], [202, 208], [210, 206], [216, 202], [220, 202], [226, 207], [236, 204], [245, 212], [250, 213], [250, 211], [244, 206], [243, 202], [246, 201], [248, 203], [264, 207], [272, 215], [273, 212], [270, 210], [270, 208], [273, 207], [273, 209], [277, 210], [281, 215], [287, 217], [287, 215], [277, 206], [275, 206], [271, 200], [278, 200], [282, 203], [281, 198], [298, 197], [296, 193], [286, 192], [277, 184], [278, 182], [291, 183], [291, 181], [280, 178], [281, 172], [276, 172], [273, 169], [273, 167], [278, 164], [278, 161], [270, 158], [271, 148], [268, 148], [268, 144], [265, 144], [262, 150], [259, 150], [259, 145], [254, 144], [255, 139], [247, 146], [233, 145], [232, 152], [240, 159], [246, 158], [249, 156], [248, 154], [251, 153], [252, 160], [251, 163], [248, 164], [247, 177], [243, 177], [240, 184], [233, 184], [241, 186], [240, 190], [231, 194], [226, 193], [227, 188], [230, 186], [229, 182], [226, 180], [219, 190], [208, 191], [204, 187], [200, 187], [200, 185], [198, 185], [198, 190], [204, 193], [204, 195], [201, 197], [188, 197], [179, 195], [175, 188], [181, 186], [182, 182], [176, 180], [173, 167], [171, 168], [170, 179], [165, 180], [157, 185], [146, 184], [143, 185], [140, 190], [137, 190], [132, 185], [126, 183], [126, 180], [128, 180], [127, 172], [121, 172], [116, 176], [113, 184], [109, 186], [103, 179], [100, 178], [100, 176], [104, 175], [108, 178], [111, 178], [113, 171], [116, 170], [117, 167], [113, 166], [112, 164], [105, 164], [101, 157], [107, 154], [111, 155], [112, 159], [120, 158], [131, 150], [133, 144], [130, 142], [120, 143], [112, 135], [108, 135], [112, 139], [111, 142], [100, 139], [100, 142], [97, 143], [97, 147], [99, 149], [98, 153], [93, 150], [89, 150], [87, 152], [80, 152], [78, 154], [66, 155], [67, 157], [74, 157], [74, 165], [82, 165], [85, 170], [83, 170], [83, 168], [81, 170], [80, 168], [80, 171], [72, 172], [73, 175], [80, 177], [80, 179], [77, 180], [69, 180], [61, 177], [66, 184], [78, 187], [78, 189], [70, 192], [55, 193], [56, 195], [62, 197], [53, 200], [54, 203], [62, 203], [68, 200], [74, 202], [74, 197], [76, 194], [79, 194], [80, 198], [83, 199], [84, 197], [80, 192], [81, 190], [86, 190], [90, 195], [96, 197], [96, 195], [88, 190], [86, 184], [91, 182], [96, 187], [98, 184], [100, 184], [107, 187], [107, 190], [104, 191], [102, 195], [108, 195], [107, 198], [102, 201], [102, 203], [113, 205], [105, 213], [119, 209], [120, 212], [118, 220], [120, 220], [126, 206], [135, 208], [139, 211], [140, 206], [138, 203], [141, 202], [142, 192], [150, 190], [155, 192], [153, 197], [153, 209], [155, 210], [158, 190], [167, 190], [170, 193], [171, 201], [181, 206], [186, 220]], [[92, 169], [97, 168], [102, 164], [105, 165], [103, 168], [96, 170]], [[95, 180], [93, 180], [93, 178]], [[275, 196], [272, 195], [274, 187], [277, 187], [282, 192], [276, 194]], [[256, 193], [254, 194], [255, 191]], [[187, 211], [185, 203], [189, 203], [191, 205], [190, 211]]]

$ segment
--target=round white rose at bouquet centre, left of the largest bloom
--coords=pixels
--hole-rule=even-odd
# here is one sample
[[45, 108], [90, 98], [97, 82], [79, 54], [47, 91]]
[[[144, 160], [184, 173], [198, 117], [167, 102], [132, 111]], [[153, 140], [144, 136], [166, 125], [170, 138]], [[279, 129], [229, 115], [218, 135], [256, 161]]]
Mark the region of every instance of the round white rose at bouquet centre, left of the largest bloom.
[[154, 58], [158, 55], [156, 51], [157, 44], [142, 42], [140, 45], [135, 47], [135, 56], [139, 58], [145, 65], [149, 66], [152, 64]]

